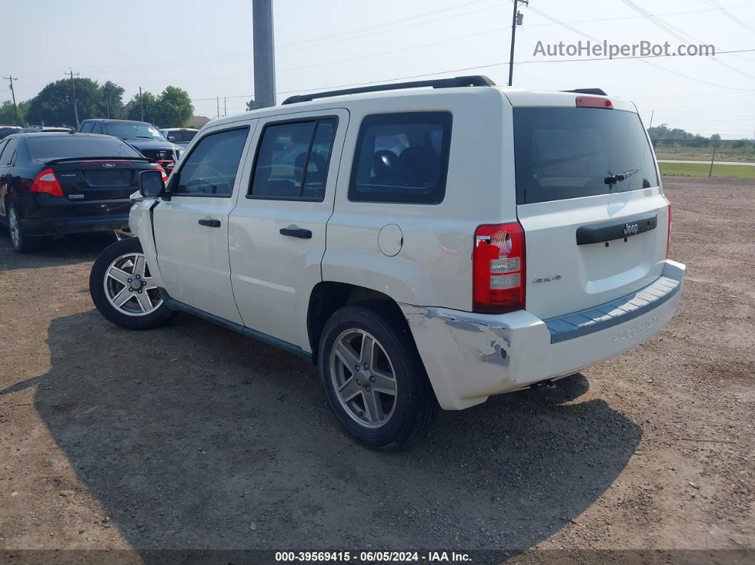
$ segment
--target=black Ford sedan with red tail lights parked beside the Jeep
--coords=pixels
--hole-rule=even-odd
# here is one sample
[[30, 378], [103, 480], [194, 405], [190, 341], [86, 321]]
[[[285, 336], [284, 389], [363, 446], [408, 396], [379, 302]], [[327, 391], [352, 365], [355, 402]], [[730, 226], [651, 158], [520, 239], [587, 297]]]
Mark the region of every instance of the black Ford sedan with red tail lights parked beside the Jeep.
[[0, 141], [0, 223], [19, 252], [42, 238], [128, 227], [142, 170], [165, 170], [116, 137], [14, 134]]

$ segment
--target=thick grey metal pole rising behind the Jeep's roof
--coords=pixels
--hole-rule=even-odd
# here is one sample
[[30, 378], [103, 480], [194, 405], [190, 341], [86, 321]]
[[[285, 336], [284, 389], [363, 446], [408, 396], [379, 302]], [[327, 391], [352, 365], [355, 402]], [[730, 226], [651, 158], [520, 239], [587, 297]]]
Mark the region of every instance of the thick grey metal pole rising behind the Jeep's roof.
[[257, 108], [276, 105], [276, 53], [273, 35], [273, 0], [252, 0], [254, 36], [254, 101]]

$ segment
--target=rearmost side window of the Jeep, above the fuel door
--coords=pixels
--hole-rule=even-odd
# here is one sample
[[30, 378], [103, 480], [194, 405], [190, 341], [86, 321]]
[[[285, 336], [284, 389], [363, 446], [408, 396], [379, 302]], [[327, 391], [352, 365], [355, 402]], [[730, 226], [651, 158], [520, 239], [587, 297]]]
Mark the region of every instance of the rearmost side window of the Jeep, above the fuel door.
[[451, 147], [449, 112], [365, 116], [359, 127], [349, 199], [438, 204]]

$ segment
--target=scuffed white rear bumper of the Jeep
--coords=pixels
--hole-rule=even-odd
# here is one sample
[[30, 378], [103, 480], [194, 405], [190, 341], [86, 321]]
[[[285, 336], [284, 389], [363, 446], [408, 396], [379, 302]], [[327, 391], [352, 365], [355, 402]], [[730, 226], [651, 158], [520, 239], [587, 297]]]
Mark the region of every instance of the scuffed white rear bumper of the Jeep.
[[[399, 306], [440, 406], [445, 410], [461, 410], [484, 402], [491, 395], [576, 373], [649, 339], [676, 312], [684, 270], [681, 263], [667, 261], [663, 277], [669, 280], [665, 284], [668, 296], [653, 301], [648, 293], [627, 295], [626, 304], [614, 301], [615, 310], [606, 310], [608, 323], [584, 318], [584, 324], [578, 325], [594, 324], [593, 327], [579, 331], [569, 327], [568, 339], [555, 339], [554, 327], [558, 328], [558, 324], [543, 321], [526, 310], [490, 315]], [[654, 285], [646, 289], [658, 294]], [[641, 312], [636, 305], [643, 305]], [[608, 305], [600, 308], [605, 306]], [[583, 314], [564, 319], [576, 323], [575, 316]]]

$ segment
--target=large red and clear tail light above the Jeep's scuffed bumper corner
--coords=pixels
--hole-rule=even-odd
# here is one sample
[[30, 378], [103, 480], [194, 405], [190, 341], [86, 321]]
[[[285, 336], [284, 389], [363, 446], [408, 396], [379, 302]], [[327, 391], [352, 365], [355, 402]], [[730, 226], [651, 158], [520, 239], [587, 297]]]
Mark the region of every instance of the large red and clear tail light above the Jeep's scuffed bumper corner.
[[518, 222], [479, 226], [472, 252], [474, 312], [524, 308], [524, 230]]

